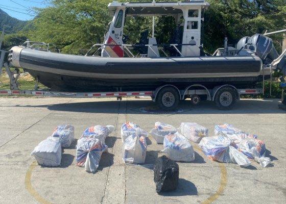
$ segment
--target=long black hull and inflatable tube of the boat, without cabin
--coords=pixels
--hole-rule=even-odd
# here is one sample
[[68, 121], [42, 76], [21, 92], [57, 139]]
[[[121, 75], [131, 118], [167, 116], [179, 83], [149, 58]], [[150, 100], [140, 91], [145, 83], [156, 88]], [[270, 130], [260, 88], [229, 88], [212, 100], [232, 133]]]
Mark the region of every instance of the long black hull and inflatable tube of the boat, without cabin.
[[258, 57], [100, 58], [22, 48], [19, 59], [20, 67], [59, 91], [153, 90], [164, 83], [249, 86], [263, 74]]

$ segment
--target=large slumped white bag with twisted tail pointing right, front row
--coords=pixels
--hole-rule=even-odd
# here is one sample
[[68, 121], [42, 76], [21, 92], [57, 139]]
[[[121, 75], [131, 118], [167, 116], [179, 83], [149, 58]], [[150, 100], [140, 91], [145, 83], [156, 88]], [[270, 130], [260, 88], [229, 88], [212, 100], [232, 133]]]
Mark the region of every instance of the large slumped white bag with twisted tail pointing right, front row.
[[249, 159], [239, 150], [231, 146], [233, 142], [225, 136], [204, 137], [199, 146], [204, 154], [213, 161], [234, 163], [247, 167], [251, 164]]

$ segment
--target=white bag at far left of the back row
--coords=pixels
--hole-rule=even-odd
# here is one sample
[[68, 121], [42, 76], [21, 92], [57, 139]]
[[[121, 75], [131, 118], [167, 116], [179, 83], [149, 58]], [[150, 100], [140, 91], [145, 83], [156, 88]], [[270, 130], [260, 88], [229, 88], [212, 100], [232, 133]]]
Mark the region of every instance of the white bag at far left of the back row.
[[54, 133], [52, 134], [52, 139], [59, 141], [62, 147], [70, 147], [75, 138], [75, 128], [72, 125], [59, 125], [55, 128]]

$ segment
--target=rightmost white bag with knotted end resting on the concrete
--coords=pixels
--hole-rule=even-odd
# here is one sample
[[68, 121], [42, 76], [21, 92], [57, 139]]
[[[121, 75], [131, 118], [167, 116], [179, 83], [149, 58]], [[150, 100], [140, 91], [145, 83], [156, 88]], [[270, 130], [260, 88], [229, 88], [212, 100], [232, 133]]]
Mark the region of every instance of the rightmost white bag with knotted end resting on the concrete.
[[258, 162], [262, 167], [267, 167], [271, 160], [265, 157], [266, 146], [264, 141], [255, 138], [246, 138], [239, 143], [239, 151], [248, 159]]

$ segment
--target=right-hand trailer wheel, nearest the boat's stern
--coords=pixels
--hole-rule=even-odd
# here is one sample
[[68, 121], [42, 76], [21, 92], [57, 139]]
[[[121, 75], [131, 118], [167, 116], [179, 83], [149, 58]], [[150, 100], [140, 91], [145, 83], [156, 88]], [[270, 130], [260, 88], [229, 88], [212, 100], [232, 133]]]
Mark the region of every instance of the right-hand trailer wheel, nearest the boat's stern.
[[230, 87], [221, 88], [214, 97], [214, 103], [220, 110], [230, 110], [236, 102], [235, 91]]

